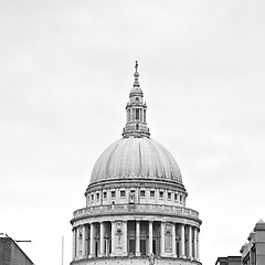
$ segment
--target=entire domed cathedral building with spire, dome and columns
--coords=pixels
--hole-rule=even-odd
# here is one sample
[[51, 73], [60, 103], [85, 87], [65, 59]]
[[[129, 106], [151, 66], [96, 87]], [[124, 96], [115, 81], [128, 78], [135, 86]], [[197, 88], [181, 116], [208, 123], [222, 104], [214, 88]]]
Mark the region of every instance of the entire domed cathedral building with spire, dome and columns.
[[74, 212], [72, 265], [200, 265], [200, 225], [173, 156], [150, 138], [138, 64], [123, 138], [96, 161]]

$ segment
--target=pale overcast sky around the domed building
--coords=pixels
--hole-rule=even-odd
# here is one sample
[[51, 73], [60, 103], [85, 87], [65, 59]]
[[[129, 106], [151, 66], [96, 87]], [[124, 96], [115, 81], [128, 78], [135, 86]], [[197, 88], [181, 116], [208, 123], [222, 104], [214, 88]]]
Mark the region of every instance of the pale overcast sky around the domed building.
[[121, 137], [139, 61], [151, 137], [200, 212], [201, 259], [239, 255], [264, 213], [265, 2], [0, 2], [0, 232], [72, 258], [70, 220]]

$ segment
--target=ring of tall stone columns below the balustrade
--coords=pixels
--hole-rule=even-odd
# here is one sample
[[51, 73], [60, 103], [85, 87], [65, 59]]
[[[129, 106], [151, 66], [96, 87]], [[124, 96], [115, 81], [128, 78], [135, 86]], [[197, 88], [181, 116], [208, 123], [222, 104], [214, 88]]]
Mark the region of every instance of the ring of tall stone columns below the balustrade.
[[105, 256], [180, 257], [199, 261], [199, 229], [157, 221], [93, 222], [73, 229], [73, 261]]

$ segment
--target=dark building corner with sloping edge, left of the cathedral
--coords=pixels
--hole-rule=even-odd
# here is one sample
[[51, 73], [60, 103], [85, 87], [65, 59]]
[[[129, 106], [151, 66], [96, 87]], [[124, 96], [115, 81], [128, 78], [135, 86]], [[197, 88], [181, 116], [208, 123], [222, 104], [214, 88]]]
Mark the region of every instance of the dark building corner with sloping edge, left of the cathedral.
[[0, 235], [0, 265], [33, 265], [19, 245], [6, 234]]

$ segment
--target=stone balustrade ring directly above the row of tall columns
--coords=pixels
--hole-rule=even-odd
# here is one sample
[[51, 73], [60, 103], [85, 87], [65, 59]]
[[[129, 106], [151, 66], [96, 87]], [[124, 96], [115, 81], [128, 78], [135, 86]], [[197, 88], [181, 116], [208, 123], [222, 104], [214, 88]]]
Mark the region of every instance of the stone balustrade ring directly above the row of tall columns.
[[115, 213], [163, 213], [163, 214], [177, 214], [182, 216], [192, 216], [199, 219], [199, 213], [192, 209], [173, 206], [173, 205], [157, 205], [157, 204], [112, 204], [100, 206], [89, 206], [76, 210], [74, 218], [81, 218], [83, 215], [93, 214], [115, 214]]

